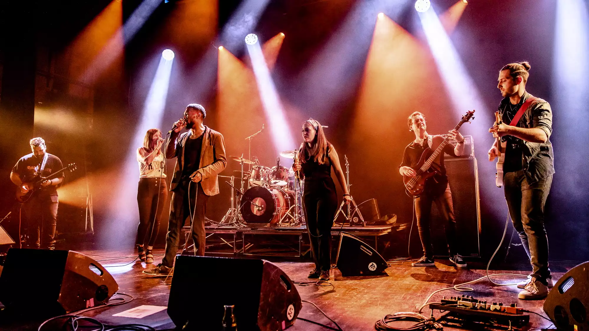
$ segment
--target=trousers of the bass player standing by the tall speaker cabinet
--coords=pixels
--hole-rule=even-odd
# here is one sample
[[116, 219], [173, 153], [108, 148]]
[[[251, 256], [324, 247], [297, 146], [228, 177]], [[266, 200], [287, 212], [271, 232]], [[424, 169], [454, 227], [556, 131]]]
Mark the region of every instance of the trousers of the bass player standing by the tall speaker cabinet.
[[419, 239], [423, 246], [423, 255], [428, 259], [434, 257], [434, 246], [429, 231], [431, 220], [432, 202], [436, 203], [438, 210], [444, 219], [444, 230], [446, 233], [446, 242], [448, 243], [448, 253], [450, 257], [456, 254], [456, 221], [454, 220], [454, 207], [452, 205], [452, 192], [450, 185], [446, 184], [446, 190], [442, 193], [423, 192], [418, 198], [415, 198], [415, 217], [417, 218], [417, 228], [419, 229]]

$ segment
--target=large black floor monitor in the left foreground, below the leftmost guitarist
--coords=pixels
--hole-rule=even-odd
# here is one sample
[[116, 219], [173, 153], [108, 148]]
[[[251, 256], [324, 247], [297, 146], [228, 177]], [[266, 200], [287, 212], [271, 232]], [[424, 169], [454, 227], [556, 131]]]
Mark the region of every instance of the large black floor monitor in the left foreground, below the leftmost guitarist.
[[9, 249], [0, 274], [0, 302], [35, 315], [94, 307], [117, 290], [100, 263], [71, 250]]

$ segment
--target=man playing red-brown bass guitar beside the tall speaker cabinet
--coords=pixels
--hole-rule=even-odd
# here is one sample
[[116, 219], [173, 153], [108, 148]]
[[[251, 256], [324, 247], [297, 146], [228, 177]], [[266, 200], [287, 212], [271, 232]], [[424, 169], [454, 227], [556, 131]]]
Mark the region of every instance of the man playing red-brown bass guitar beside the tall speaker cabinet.
[[[429, 135], [426, 131], [425, 117], [419, 111], [413, 112], [407, 118], [409, 131], [415, 134], [415, 140], [407, 147], [403, 153], [403, 161], [399, 166], [399, 173], [403, 176], [416, 176], [414, 167], [419, 163], [423, 151], [427, 147], [439, 146], [445, 137], [443, 135]], [[464, 151], [464, 137], [458, 130], [448, 131], [448, 137], [456, 141], [456, 145], [447, 144], [444, 147], [444, 153], [452, 156], [462, 155]], [[435, 149], [435, 148], [432, 148]], [[419, 229], [419, 239], [423, 246], [423, 256], [415, 263], [413, 267], [434, 266], [434, 247], [432, 246], [431, 235], [429, 233], [429, 220], [432, 208], [432, 202], [438, 206], [442, 217], [445, 220], [446, 240], [448, 241], [448, 253], [450, 261], [457, 267], [466, 267], [462, 257], [456, 253], [456, 221], [454, 220], [454, 207], [452, 207], [452, 193], [446, 177], [446, 168], [444, 167], [444, 155], [439, 155], [439, 160], [432, 163], [432, 167], [438, 172], [435, 176], [425, 181], [423, 193], [413, 201], [415, 206], [415, 216], [417, 218], [417, 227]]]

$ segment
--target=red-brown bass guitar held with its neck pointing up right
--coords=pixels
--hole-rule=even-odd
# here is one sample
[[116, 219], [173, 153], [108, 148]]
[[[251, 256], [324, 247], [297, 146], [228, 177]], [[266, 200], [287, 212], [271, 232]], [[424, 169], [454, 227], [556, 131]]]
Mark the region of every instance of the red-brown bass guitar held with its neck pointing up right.
[[[462, 119], [456, 124], [454, 130], [458, 130], [462, 124], [468, 122], [471, 123], [470, 120], [474, 119], [473, 115], [475, 111], [467, 111]], [[403, 183], [405, 183], [405, 188], [407, 194], [416, 198], [423, 192], [423, 187], [425, 186], [425, 181], [429, 178], [434, 176], [438, 171], [431, 168], [432, 163], [436, 160], [438, 155], [442, 153], [444, 147], [450, 142], [450, 138], [446, 137], [444, 141], [436, 148], [435, 151], [432, 151], [431, 148], [425, 148], [423, 154], [421, 154], [421, 158], [419, 158], [419, 163], [415, 166], [415, 172], [417, 173], [414, 177], [404, 176], [403, 175]]]

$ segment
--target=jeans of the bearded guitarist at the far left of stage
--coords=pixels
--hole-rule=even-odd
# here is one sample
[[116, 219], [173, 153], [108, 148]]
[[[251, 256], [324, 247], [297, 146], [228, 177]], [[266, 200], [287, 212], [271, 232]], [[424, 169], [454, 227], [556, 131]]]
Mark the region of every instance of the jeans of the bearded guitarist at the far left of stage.
[[33, 195], [22, 205], [22, 216], [27, 224], [27, 246], [52, 249], [57, 224], [57, 196]]

